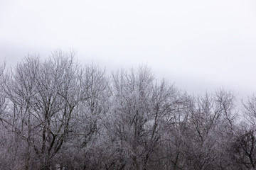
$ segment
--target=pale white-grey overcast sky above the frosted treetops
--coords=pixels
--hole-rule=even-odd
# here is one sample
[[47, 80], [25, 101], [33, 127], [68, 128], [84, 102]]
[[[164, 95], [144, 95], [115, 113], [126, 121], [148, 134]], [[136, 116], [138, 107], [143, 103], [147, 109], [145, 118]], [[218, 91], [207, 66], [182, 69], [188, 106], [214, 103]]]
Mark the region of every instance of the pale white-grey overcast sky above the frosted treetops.
[[147, 64], [198, 93], [256, 92], [255, 0], [0, 0], [0, 62], [75, 49], [108, 70]]

